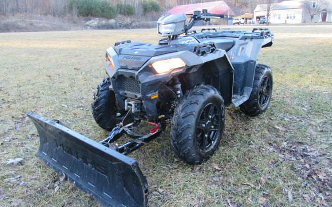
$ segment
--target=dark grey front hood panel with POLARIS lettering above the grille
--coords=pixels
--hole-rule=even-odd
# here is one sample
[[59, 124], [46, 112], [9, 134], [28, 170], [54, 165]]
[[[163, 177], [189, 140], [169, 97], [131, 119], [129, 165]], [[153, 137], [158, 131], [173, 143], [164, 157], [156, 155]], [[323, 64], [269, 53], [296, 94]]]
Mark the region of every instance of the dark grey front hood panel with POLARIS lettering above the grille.
[[[184, 46], [184, 47], [183, 47]], [[121, 68], [138, 70], [151, 57], [181, 51], [185, 45], [151, 45], [132, 42], [114, 47], [118, 53]]]

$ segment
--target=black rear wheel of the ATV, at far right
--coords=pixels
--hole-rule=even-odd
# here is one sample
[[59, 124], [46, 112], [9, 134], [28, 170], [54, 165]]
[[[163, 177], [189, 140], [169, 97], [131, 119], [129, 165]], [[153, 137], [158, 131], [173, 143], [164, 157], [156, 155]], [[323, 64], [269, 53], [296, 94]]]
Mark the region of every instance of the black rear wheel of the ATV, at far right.
[[273, 78], [269, 66], [257, 64], [249, 99], [240, 105], [243, 113], [259, 115], [268, 109], [272, 97]]

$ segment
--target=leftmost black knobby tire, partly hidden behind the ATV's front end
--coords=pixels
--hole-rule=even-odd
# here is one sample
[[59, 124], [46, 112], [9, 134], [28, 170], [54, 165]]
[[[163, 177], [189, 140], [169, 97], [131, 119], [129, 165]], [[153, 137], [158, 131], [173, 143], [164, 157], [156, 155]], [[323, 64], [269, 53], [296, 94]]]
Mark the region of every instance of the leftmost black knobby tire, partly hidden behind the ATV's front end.
[[120, 122], [116, 117], [121, 115], [121, 111], [116, 108], [115, 94], [108, 88], [110, 85], [109, 78], [103, 79], [97, 86], [91, 103], [94, 121], [106, 130], [112, 130]]

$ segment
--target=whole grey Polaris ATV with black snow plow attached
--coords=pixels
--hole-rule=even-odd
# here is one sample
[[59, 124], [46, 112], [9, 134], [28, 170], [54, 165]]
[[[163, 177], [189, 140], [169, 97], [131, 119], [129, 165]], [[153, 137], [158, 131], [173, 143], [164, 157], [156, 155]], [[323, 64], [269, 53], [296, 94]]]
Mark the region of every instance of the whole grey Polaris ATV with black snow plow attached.
[[[175, 153], [199, 164], [222, 139], [226, 106], [258, 115], [270, 103], [272, 71], [256, 58], [272, 46], [273, 34], [262, 28], [190, 30], [197, 21], [222, 17], [195, 11], [186, 23], [185, 15], [165, 15], [158, 20], [165, 37], [158, 45], [126, 40], [107, 49], [108, 78], [97, 86], [92, 114], [109, 136], [98, 143], [28, 113], [40, 137], [38, 156], [105, 206], [147, 206], [147, 180], [126, 155], [159, 136], [170, 120]], [[133, 132], [142, 122], [150, 132]], [[114, 145], [123, 134], [132, 140]]]

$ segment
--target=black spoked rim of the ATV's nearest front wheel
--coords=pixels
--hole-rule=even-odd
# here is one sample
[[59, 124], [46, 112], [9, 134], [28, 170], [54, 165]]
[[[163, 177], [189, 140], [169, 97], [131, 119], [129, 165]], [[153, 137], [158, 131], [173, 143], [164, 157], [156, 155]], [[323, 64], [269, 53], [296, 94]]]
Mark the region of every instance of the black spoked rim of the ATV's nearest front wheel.
[[218, 136], [220, 128], [220, 108], [208, 103], [197, 121], [197, 145], [201, 150], [209, 150]]

